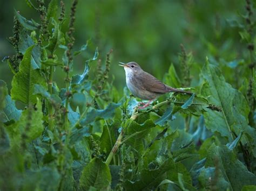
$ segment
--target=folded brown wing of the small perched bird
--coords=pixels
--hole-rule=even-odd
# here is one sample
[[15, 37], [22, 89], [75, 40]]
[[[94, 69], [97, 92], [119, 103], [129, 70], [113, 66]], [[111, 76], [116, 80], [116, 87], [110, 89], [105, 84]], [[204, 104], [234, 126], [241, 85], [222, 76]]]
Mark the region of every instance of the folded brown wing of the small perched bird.
[[164, 83], [160, 82], [156, 77], [147, 72], [136, 75], [136, 77], [133, 77], [133, 80], [136, 81], [136, 84], [140, 84], [142, 88], [147, 91], [154, 93], [170, 92], [170, 89]]

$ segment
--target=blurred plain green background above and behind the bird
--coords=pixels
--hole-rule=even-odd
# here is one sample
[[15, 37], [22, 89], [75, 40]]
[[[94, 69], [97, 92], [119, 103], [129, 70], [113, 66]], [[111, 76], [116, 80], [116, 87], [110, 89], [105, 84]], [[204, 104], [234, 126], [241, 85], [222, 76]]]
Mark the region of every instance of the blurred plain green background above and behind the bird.
[[[31, 2], [37, 4], [35, 0]], [[69, 12], [71, 1], [64, 3], [66, 12]], [[14, 54], [14, 49], [6, 40], [12, 34], [14, 8], [24, 17], [39, 22], [38, 13], [29, 8], [25, 0], [1, 0], [1, 58]], [[244, 56], [240, 49], [246, 45], [240, 42], [239, 28], [233, 21], [239, 19], [238, 12], [244, 11], [245, 1], [241, 0], [80, 0], [76, 12], [74, 49], [88, 39], [91, 39], [91, 44], [88, 51], [75, 59], [73, 73], [83, 72], [85, 60], [91, 58], [98, 47], [103, 63], [106, 53], [113, 49], [111, 76], [114, 76], [114, 84], [120, 91], [125, 86], [125, 73], [118, 66], [118, 61], [136, 61], [160, 80], [173, 63], [178, 75], [183, 77], [178, 62], [180, 44], [183, 44], [198, 63], [191, 68], [194, 84], [197, 84], [206, 56], [212, 63], [222, 66]], [[69, 18], [66, 18], [66, 29], [68, 23]], [[96, 62], [94, 64], [97, 65]], [[225, 73], [228, 72], [227, 68]], [[1, 62], [0, 79], [6, 81], [9, 87], [12, 75], [7, 63]], [[63, 79], [64, 72], [60, 69], [55, 80], [62, 84]], [[232, 75], [227, 76], [227, 81], [232, 83], [234, 80]]]

